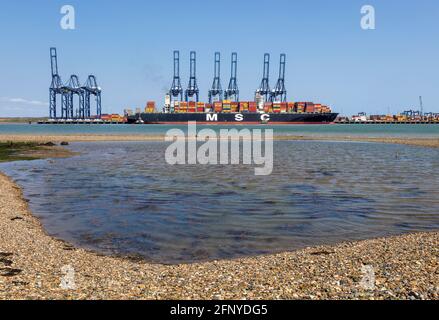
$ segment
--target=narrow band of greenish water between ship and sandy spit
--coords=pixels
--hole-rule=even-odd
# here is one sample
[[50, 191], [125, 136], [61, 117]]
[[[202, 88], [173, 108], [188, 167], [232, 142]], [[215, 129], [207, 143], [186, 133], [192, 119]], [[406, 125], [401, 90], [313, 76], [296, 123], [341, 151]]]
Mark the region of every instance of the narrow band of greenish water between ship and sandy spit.
[[[147, 134], [164, 135], [171, 128], [186, 126], [169, 125], [28, 125], [0, 124], [0, 134]], [[246, 126], [252, 128], [252, 126]], [[254, 126], [261, 128], [261, 126]], [[227, 128], [212, 126], [212, 128]], [[236, 126], [233, 126], [236, 128]], [[239, 127], [238, 127], [239, 128]], [[439, 137], [439, 125], [291, 125], [264, 126], [273, 128], [278, 135], [304, 136], [367, 136], [367, 137]]]

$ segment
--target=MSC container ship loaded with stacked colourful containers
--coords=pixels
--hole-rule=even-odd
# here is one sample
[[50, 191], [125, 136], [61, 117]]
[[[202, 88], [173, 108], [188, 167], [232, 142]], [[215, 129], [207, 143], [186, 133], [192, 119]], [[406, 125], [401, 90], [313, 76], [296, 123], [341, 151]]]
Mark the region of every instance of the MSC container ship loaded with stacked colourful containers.
[[131, 124], [329, 124], [338, 114], [331, 108], [312, 102], [174, 102], [157, 112], [155, 102], [148, 102], [145, 112], [125, 110]]

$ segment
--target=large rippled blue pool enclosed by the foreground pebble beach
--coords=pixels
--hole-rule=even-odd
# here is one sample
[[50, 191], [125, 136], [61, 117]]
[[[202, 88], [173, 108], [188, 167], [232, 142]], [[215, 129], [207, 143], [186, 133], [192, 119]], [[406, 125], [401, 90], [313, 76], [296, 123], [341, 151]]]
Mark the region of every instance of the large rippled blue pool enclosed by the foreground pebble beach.
[[275, 170], [169, 166], [162, 142], [75, 143], [0, 165], [47, 231], [160, 263], [273, 253], [439, 228], [439, 150], [275, 142]]

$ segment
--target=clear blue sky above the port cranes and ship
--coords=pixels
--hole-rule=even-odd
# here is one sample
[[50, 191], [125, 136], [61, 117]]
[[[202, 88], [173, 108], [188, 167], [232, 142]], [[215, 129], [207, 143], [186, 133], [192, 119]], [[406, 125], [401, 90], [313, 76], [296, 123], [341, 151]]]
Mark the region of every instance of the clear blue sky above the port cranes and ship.
[[[63, 5], [76, 9], [76, 30], [60, 27]], [[360, 27], [373, 5], [376, 30]], [[396, 113], [419, 105], [439, 112], [437, 0], [18, 0], [0, 2], [0, 117], [48, 115], [49, 48], [58, 49], [63, 81], [93, 73], [103, 112], [162, 104], [180, 50], [183, 86], [189, 52], [197, 51], [201, 99], [222, 53], [222, 85], [238, 53], [242, 100], [253, 99], [271, 53], [274, 86], [279, 54], [287, 54], [290, 101], [329, 104], [337, 112]]]

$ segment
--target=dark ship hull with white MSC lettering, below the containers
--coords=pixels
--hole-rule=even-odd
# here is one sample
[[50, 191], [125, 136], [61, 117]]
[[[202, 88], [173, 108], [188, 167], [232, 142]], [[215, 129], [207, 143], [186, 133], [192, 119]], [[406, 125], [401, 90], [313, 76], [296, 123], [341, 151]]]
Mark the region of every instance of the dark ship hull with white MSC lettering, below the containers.
[[[208, 125], [256, 125], [256, 124], [329, 124], [337, 113], [141, 113], [128, 117], [128, 123], [186, 124], [196, 121]], [[142, 121], [139, 121], [141, 119]]]

